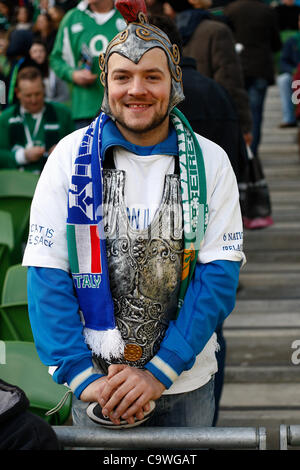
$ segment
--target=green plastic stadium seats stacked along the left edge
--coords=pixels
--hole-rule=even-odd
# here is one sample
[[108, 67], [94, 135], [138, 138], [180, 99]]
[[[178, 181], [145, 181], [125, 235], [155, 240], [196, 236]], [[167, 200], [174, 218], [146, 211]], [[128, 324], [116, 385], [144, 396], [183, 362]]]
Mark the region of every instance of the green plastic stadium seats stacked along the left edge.
[[0, 377], [20, 387], [30, 411], [51, 425], [64, 424], [71, 411], [71, 396], [51, 415], [68, 388], [54, 382], [34, 344], [27, 300], [27, 268], [22, 266], [30, 206], [38, 175], [0, 171]]

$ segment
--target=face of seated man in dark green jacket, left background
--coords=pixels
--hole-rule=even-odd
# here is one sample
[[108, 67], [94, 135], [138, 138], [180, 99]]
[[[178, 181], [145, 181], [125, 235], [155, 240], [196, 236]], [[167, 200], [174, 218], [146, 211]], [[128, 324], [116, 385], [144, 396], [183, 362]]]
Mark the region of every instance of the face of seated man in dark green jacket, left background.
[[17, 98], [28, 113], [35, 114], [44, 106], [44, 85], [41, 78], [20, 80], [16, 90]]

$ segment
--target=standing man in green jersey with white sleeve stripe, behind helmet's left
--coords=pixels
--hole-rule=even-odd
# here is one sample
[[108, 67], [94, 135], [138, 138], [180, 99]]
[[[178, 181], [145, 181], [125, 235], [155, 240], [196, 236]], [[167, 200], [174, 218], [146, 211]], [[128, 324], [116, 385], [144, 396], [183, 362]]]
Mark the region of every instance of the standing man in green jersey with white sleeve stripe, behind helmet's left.
[[77, 128], [98, 114], [103, 87], [98, 57], [125, 23], [113, 0], [83, 0], [63, 17], [50, 56], [56, 75], [72, 84], [72, 118]]

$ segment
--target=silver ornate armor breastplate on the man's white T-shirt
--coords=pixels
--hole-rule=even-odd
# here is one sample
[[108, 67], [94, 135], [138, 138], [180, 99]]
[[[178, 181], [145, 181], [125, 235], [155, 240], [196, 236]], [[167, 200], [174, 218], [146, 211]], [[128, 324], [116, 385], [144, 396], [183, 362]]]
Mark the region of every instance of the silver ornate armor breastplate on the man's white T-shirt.
[[[157, 352], [177, 311], [183, 253], [180, 180], [167, 175], [161, 205], [145, 230], [127, 216], [125, 172], [103, 171], [103, 219], [124, 364], [143, 367]], [[120, 362], [120, 360], [118, 360]]]

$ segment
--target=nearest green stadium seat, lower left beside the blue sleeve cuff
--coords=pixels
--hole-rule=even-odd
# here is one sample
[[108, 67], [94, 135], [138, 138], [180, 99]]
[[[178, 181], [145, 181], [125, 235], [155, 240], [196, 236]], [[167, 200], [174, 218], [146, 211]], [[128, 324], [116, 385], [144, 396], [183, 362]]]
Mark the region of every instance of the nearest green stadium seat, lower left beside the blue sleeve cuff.
[[[0, 377], [12, 385], [20, 387], [30, 402], [30, 411], [51, 425], [66, 422], [71, 411], [71, 394], [67, 394], [62, 407], [54, 414], [46, 412], [56, 407], [69, 390], [54, 382], [37, 354], [35, 345], [28, 342], [5, 341], [0, 361]], [[3, 346], [3, 344], [2, 344]]]

